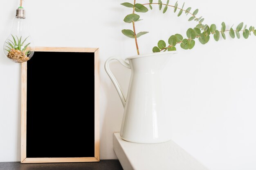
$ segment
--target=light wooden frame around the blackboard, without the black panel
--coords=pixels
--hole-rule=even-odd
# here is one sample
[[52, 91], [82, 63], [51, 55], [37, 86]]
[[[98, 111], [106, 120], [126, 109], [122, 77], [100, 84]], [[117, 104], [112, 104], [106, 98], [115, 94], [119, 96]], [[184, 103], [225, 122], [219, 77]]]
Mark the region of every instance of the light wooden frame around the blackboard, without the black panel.
[[21, 64], [21, 163], [98, 162], [99, 159], [99, 48], [36, 47], [36, 52], [94, 53], [94, 157], [28, 158], [27, 152], [27, 62]]

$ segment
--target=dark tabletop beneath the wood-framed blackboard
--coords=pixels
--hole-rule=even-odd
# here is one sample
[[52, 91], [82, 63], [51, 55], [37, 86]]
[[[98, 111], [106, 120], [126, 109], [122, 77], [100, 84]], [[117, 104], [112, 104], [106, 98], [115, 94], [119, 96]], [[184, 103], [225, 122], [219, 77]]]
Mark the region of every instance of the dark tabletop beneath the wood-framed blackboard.
[[123, 170], [117, 159], [83, 163], [0, 162], [0, 170]]

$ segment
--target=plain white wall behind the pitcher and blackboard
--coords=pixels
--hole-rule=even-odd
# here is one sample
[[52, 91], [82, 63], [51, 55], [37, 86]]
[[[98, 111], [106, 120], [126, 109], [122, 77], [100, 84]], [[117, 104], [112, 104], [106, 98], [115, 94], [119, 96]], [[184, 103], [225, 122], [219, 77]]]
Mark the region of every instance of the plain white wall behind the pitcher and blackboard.
[[[129, 0], [131, 1], [131, 0]], [[116, 159], [112, 133], [119, 131], [123, 108], [103, 64], [110, 56], [135, 55], [134, 39], [121, 34], [130, 29], [123, 18], [131, 9], [120, 0], [26, 0], [27, 18], [36, 46], [100, 48], [101, 159]], [[141, 2], [141, 1], [140, 1]], [[147, 1], [145, 1], [147, 2]], [[171, 1], [170, 4], [174, 4]], [[180, 1], [180, 4], [183, 2]], [[211, 5], [211, 6], [210, 6]], [[189, 0], [185, 7], [200, 9], [205, 23], [245, 22], [256, 26], [255, 1]], [[18, 0], [1, 2], [0, 42], [9, 35]], [[151, 52], [159, 39], [175, 33], [185, 35], [196, 22], [177, 17], [173, 9], [141, 14], [137, 31], [141, 53]], [[172, 115], [173, 140], [211, 170], [256, 169], [256, 37], [211, 38], [207, 45], [196, 41], [193, 50], [178, 48], [166, 68], [166, 103]], [[46, 58], [47, 59], [47, 58]], [[86, 61], [85, 61], [86, 62]], [[111, 68], [127, 92], [130, 70], [119, 63]], [[0, 162], [20, 161], [20, 65], [0, 53]]]

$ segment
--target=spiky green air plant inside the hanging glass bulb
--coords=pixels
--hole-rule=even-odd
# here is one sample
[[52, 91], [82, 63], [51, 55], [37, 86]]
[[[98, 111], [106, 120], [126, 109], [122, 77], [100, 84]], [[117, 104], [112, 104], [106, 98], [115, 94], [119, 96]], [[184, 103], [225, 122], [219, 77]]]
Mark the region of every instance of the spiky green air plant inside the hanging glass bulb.
[[31, 50], [27, 50], [27, 51], [26, 51], [27, 47], [28, 47], [29, 44], [31, 44], [31, 43], [28, 43], [28, 44], [26, 44], [26, 45], [23, 47], [23, 45], [24, 45], [24, 43], [25, 43], [25, 41], [27, 40], [28, 37], [25, 38], [25, 39], [22, 41], [22, 36], [20, 36], [20, 38], [18, 38], [18, 37], [16, 36], [17, 39], [16, 39], [13, 35], [11, 35], [11, 36], [12, 36], [13, 40], [8, 39], [8, 41], [5, 41], [5, 42], [7, 43], [7, 46], [5, 46], [5, 47], [7, 47], [7, 48], [5, 48], [4, 50], [6, 50], [6, 51], [8, 51], [8, 52], [10, 52], [11, 49], [19, 50], [19, 51], [21, 51], [21, 52], [25, 52], [25, 55], [31, 53]]

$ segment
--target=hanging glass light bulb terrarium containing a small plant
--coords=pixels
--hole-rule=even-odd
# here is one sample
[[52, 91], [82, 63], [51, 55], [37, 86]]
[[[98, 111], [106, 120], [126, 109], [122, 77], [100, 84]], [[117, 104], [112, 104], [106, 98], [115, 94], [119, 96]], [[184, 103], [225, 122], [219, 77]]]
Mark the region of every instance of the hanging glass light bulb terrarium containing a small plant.
[[25, 10], [19, 7], [13, 18], [11, 34], [4, 42], [4, 54], [16, 63], [28, 61], [35, 51], [26, 22]]

